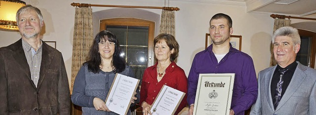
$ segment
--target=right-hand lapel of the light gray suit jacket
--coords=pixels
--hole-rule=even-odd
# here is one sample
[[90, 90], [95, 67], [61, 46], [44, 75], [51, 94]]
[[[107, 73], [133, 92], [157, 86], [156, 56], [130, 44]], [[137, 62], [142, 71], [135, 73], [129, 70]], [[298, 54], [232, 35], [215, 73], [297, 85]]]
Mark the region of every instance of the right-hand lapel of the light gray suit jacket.
[[287, 86], [284, 96], [282, 96], [278, 106], [276, 107], [276, 111], [280, 109], [286, 101], [294, 94], [294, 92], [298, 89], [298, 87], [303, 83], [306, 78], [306, 74], [303, 72], [306, 70], [306, 67], [297, 61], [298, 65], [295, 69], [294, 75], [290, 84]]

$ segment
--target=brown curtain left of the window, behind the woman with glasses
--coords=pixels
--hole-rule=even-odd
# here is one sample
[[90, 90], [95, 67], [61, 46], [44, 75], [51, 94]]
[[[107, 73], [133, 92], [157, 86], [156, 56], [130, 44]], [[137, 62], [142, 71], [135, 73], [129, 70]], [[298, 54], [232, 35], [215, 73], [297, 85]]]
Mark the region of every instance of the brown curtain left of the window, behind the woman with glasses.
[[75, 27], [73, 38], [73, 58], [71, 68], [71, 89], [73, 92], [74, 82], [77, 73], [85, 62], [89, 53], [90, 46], [93, 42], [93, 29], [92, 29], [92, 8], [89, 7], [76, 7], [75, 13]]

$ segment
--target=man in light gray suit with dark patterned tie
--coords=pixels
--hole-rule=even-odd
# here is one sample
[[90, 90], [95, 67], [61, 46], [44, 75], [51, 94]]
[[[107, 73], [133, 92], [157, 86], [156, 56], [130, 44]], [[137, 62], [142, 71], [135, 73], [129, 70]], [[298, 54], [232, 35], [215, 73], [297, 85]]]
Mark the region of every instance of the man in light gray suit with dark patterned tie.
[[301, 44], [298, 30], [279, 28], [272, 43], [277, 65], [259, 72], [258, 98], [250, 115], [316, 115], [316, 70], [295, 61]]

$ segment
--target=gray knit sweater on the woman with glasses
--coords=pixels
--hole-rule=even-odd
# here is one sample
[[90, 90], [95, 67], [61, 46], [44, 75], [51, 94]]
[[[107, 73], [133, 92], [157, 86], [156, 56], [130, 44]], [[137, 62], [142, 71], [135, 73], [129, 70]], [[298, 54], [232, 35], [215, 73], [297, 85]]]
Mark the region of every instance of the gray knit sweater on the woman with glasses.
[[[126, 66], [125, 70], [119, 74], [135, 78], [134, 72], [129, 66]], [[94, 97], [105, 101], [115, 75], [113, 71], [104, 72], [100, 70], [99, 73], [89, 72], [86, 65], [81, 66], [74, 83], [71, 100], [75, 105], [82, 107], [82, 115], [118, 115], [114, 112], [97, 111], [93, 105]], [[140, 95], [138, 89], [136, 93], [137, 100], [135, 104], [139, 103]], [[134, 104], [132, 104], [131, 107], [132, 106], [134, 106]], [[130, 115], [130, 110], [127, 115]]]

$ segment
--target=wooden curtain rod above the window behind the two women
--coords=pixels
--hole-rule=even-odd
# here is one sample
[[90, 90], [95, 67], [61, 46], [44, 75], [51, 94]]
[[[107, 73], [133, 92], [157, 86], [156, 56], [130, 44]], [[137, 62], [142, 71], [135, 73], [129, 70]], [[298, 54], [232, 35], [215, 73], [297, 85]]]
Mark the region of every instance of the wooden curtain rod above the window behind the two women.
[[125, 8], [152, 8], [152, 9], [164, 9], [169, 11], [178, 11], [180, 8], [178, 7], [154, 7], [154, 6], [129, 6], [129, 5], [100, 5], [100, 4], [89, 4], [89, 3], [71, 3], [72, 6], [77, 7], [125, 7]]

